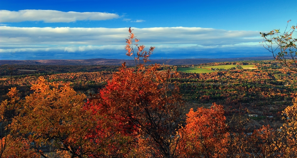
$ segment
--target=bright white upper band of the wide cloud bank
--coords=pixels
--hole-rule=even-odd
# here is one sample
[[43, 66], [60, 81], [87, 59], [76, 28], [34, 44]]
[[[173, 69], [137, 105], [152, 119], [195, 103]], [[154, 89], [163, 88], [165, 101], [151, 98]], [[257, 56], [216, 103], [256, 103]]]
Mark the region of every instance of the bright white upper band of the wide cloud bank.
[[[0, 47], [6, 45], [118, 45], [129, 28], [0, 27]], [[140, 44], [227, 45], [259, 42], [258, 31], [226, 31], [200, 27], [132, 28]]]

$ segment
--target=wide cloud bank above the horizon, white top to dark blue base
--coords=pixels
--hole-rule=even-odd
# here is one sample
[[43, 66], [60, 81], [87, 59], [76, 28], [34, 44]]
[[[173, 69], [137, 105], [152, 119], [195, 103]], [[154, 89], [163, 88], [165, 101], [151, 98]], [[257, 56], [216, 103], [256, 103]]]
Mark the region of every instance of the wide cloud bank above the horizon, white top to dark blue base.
[[[0, 27], [0, 59], [90, 59], [125, 56], [129, 28]], [[266, 56], [258, 31], [200, 27], [132, 28], [151, 59]]]

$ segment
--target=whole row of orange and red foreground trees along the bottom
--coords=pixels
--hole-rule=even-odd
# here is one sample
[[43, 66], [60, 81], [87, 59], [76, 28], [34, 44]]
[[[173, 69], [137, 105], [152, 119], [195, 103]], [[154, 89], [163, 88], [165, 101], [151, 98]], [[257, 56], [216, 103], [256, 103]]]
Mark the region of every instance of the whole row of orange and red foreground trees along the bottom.
[[24, 100], [11, 88], [0, 109], [1, 157], [296, 157], [296, 100], [278, 130], [247, 133], [215, 103], [182, 118], [179, 89], [157, 66], [123, 66], [88, 99], [43, 77]]

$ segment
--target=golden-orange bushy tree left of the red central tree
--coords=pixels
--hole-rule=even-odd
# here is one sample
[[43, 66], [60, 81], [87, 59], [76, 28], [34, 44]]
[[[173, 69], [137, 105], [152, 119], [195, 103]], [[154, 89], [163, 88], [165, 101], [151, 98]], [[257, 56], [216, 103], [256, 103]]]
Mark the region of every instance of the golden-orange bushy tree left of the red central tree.
[[31, 88], [34, 93], [19, 104], [11, 123], [12, 132], [27, 142], [30, 152], [43, 157], [56, 149], [71, 157], [92, 153], [95, 145], [85, 137], [96, 124], [83, 109], [85, 95], [76, 94], [69, 84], [48, 83], [43, 77]]

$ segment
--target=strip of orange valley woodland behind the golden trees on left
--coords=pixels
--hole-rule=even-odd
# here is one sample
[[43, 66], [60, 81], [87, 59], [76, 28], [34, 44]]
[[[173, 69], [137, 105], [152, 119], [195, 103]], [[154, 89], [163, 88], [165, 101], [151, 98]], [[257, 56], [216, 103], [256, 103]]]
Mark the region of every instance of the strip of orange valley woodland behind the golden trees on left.
[[15, 77], [0, 78], [0, 100], [7, 99], [6, 93], [11, 87], [17, 87], [21, 98], [33, 93], [32, 84], [38, 83], [38, 78], [42, 76], [49, 82], [67, 82], [75, 91], [88, 94], [89, 89], [97, 91], [106, 85], [106, 81], [112, 78], [112, 72], [93, 73], [61, 73], [61, 74], [33, 74], [20, 75]]

